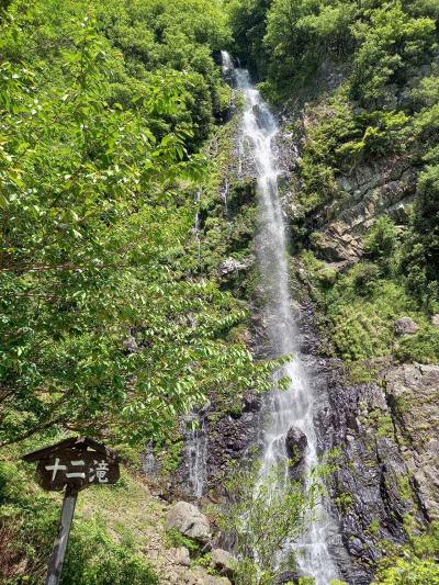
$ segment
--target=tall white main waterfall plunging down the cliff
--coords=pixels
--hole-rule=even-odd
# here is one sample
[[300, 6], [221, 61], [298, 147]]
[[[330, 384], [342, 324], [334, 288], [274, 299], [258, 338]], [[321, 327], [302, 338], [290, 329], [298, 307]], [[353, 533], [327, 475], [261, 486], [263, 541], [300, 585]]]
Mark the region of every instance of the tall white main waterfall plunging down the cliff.
[[[314, 425], [317, 406], [312, 384], [299, 356], [299, 331], [289, 292], [285, 227], [273, 146], [278, 126], [259, 91], [252, 87], [248, 71], [235, 68], [226, 52], [223, 52], [222, 56], [225, 78], [241, 91], [245, 98], [239, 151], [243, 151], [244, 145], [248, 147], [257, 171], [260, 225], [256, 248], [266, 299], [263, 319], [274, 356], [293, 356], [282, 372], [291, 379], [290, 387], [285, 391], [273, 391], [267, 402], [270, 423], [263, 436], [261, 474], [262, 477], [267, 476], [280, 464], [284, 469], [284, 481], [288, 481], [289, 455], [285, 438], [292, 426], [299, 428], [307, 439], [305, 473], [318, 463]], [[282, 485], [275, 487], [282, 490]], [[336, 528], [325, 502], [320, 502], [315, 511], [311, 526], [303, 531], [302, 538], [293, 548], [303, 574], [314, 577], [316, 585], [327, 585], [330, 580], [337, 578], [338, 574], [327, 545], [330, 537], [336, 533]]]

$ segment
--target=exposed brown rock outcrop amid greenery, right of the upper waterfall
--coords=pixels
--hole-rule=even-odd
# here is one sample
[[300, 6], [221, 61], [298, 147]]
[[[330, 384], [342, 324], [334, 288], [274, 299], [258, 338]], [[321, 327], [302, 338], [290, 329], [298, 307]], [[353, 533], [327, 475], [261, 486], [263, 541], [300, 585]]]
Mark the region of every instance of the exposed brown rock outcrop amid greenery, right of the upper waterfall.
[[[289, 128], [295, 121], [295, 133], [285, 130], [279, 143], [284, 164], [285, 211], [292, 225], [304, 223], [314, 232], [313, 248], [327, 262], [340, 268], [358, 261], [363, 254], [362, 237], [381, 215], [396, 224], [406, 224], [416, 191], [416, 172], [404, 157], [385, 157], [360, 164], [336, 178], [337, 198], [311, 213], [297, 203], [300, 189], [295, 170], [306, 143], [306, 130], [313, 114], [305, 108], [293, 117], [283, 116]], [[299, 126], [297, 126], [299, 124]]]

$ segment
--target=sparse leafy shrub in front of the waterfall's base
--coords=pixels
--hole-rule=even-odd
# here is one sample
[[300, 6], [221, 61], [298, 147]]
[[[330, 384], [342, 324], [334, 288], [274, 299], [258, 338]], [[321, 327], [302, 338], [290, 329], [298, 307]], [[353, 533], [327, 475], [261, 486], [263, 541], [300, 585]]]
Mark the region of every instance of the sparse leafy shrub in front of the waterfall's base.
[[[222, 532], [236, 542], [235, 582], [239, 585], [272, 583], [283, 567], [280, 551], [297, 538], [317, 500], [317, 477], [311, 477], [304, 491], [302, 482], [284, 473], [284, 469], [273, 469], [261, 476], [252, 465], [236, 469], [224, 482], [227, 500], [213, 515]], [[291, 566], [294, 559], [284, 562]]]

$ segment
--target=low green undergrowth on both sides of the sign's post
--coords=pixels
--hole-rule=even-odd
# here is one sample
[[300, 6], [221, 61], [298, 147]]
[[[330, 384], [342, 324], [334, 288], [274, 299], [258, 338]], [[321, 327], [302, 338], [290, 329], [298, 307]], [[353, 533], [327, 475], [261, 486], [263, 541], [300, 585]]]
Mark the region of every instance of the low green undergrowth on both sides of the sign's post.
[[[23, 465], [2, 460], [0, 504], [0, 580], [36, 585], [52, 552], [59, 496], [36, 488]], [[158, 578], [134, 543], [116, 543], [95, 518], [74, 522], [61, 583], [155, 585]]]

